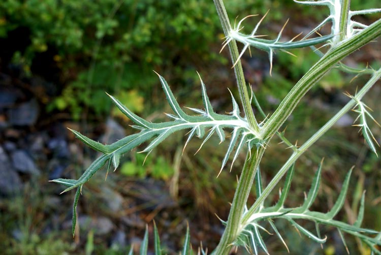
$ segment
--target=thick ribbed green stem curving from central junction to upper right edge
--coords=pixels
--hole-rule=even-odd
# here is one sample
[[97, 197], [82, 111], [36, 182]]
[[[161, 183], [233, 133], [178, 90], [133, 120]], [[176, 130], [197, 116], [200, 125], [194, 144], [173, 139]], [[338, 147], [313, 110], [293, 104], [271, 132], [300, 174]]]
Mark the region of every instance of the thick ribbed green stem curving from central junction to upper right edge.
[[280, 103], [279, 107], [264, 124], [261, 137], [271, 138], [285, 120], [294, 111], [297, 104], [307, 91], [329, 71], [338, 61], [358, 50], [363, 45], [381, 35], [381, 19], [329, 50], [315, 65], [295, 84], [291, 91]]

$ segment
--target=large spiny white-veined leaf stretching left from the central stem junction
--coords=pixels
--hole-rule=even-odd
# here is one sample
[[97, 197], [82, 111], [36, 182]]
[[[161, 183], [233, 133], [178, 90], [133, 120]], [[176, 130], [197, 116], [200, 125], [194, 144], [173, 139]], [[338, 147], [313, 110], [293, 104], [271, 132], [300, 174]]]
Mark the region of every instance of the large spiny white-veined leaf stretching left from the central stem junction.
[[[205, 84], [201, 81], [203, 103], [206, 111], [197, 110], [196, 112], [201, 113], [201, 116], [187, 115], [184, 111], [181, 110], [165, 79], [160, 75], [158, 75], [158, 77], [160, 78], [163, 90], [167, 97], [167, 101], [175, 113], [175, 115], [169, 114], [169, 116], [174, 120], [163, 123], [151, 123], [131, 112], [121, 102], [119, 102], [117, 99], [110, 95], [110, 98], [113, 101], [113, 103], [119, 108], [120, 111], [122, 111], [135, 123], [133, 127], [135, 129], [140, 130], [140, 132], [137, 134], [126, 136], [123, 139], [114, 142], [113, 144], [103, 145], [81, 135], [79, 132], [73, 131], [73, 133], [86, 145], [95, 150], [101, 151], [104, 154], [98, 157], [97, 160], [95, 160], [84, 171], [84, 173], [79, 177], [78, 180], [52, 180], [53, 182], [61, 183], [67, 186], [67, 188], [63, 190], [62, 193], [68, 192], [69, 190], [74, 188], [82, 187], [82, 185], [85, 182], [87, 182], [106, 163], [108, 163], [106, 173], [107, 177], [111, 164], [114, 166], [114, 169], [116, 169], [119, 166], [120, 156], [124, 153], [127, 153], [132, 149], [136, 148], [137, 146], [141, 145], [142, 143], [152, 139], [148, 146], [142, 151], [149, 153], [155, 146], [164, 141], [169, 135], [180, 130], [191, 129], [189, 137], [185, 143], [186, 146], [186, 144], [194, 136], [194, 134], [197, 134], [198, 137], [202, 138], [205, 135], [205, 129], [207, 128], [210, 128], [211, 131], [205, 138], [203, 144], [211, 137], [211, 135], [214, 132], [217, 132], [217, 135], [221, 142], [224, 141], [224, 128], [232, 129], [233, 137], [229, 145], [227, 154], [224, 158], [223, 167], [226, 165], [229, 155], [232, 153], [234, 145], [236, 144], [240, 136], [242, 137], [238, 144], [237, 151], [234, 155], [233, 162], [236, 160], [238, 156], [239, 149], [246, 142], [245, 136], [249, 136], [251, 139], [250, 141], [253, 141], [252, 144], [250, 144], [251, 146], [255, 145], [254, 141], [258, 143], [261, 141], [260, 134], [257, 131], [251, 130], [247, 120], [239, 116], [239, 107], [237, 102], [235, 102], [233, 95], [232, 114], [217, 114], [212, 109], [212, 106], [206, 94]], [[78, 203], [78, 197], [79, 196], [76, 197], [75, 203]]]

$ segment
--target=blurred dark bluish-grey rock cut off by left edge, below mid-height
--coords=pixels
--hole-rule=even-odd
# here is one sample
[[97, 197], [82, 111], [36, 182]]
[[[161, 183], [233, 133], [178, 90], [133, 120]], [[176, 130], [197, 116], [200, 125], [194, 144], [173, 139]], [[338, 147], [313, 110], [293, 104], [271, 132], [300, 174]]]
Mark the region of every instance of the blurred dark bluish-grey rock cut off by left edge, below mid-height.
[[21, 179], [12, 167], [3, 147], [0, 146], [0, 195], [17, 195], [21, 188]]

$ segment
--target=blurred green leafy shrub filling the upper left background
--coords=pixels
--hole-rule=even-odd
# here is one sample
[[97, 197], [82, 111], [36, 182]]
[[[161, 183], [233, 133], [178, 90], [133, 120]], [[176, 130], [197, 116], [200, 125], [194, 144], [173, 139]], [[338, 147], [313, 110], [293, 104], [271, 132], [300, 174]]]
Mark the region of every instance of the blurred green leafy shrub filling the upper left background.
[[209, 54], [218, 40], [214, 12], [212, 2], [196, 0], [4, 0], [0, 37], [26, 28], [30, 42], [13, 52], [13, 60], [33, 72], [37, 56], [49, 52], [60, 80], [68, 84], [49, 110], [78, 117], [83, 106], [108, 112], [104, 91], [149, 90], [157, 82], [152, 74], [157, 66], [218, 58]]

